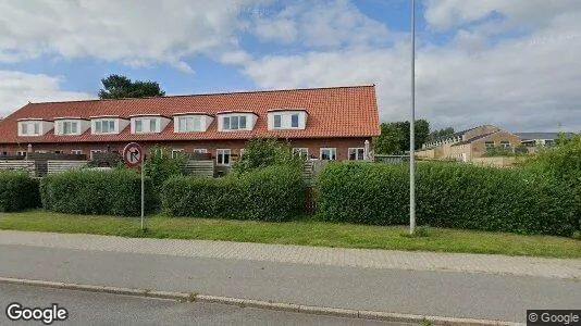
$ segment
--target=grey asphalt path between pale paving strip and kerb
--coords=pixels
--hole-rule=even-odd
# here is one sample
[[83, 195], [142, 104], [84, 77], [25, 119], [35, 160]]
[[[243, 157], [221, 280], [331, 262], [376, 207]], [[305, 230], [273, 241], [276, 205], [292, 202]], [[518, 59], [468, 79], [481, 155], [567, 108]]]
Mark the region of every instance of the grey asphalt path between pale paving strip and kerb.
[[526, 321], [579, 309], [581, 281], [0, 246], [0, 276], [382, 312]]

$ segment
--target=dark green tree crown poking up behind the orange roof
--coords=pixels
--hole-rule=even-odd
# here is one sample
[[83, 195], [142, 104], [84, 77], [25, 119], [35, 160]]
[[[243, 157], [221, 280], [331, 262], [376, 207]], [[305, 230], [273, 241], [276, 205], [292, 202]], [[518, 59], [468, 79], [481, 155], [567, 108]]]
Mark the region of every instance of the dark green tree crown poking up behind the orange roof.
[[99, 90], [100, 99], [145, 98], [162, 97], [165, 91], [161, 90], [157, 82], [135, 80], [122, 76], [110, 75], [101, 79], [103, 88]]

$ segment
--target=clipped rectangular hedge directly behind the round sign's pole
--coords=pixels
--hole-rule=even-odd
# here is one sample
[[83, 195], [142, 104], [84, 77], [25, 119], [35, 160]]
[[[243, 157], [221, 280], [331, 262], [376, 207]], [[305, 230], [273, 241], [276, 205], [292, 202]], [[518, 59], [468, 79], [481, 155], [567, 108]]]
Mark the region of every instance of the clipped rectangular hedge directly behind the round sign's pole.
[[[146, 212], [154, 208], [152, 187], [145, 179]], [[138, 216], [141, 213], [141, 177], [131, 170], [69, 171], [40, 183], [42, 206], [59, 213]]]

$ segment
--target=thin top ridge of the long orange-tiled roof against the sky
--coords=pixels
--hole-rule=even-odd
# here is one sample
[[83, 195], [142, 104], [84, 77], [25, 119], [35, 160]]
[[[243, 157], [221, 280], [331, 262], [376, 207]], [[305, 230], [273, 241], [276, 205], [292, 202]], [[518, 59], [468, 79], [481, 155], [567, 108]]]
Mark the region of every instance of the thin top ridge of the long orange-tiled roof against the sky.
[[[27, 104], [47, 104], [47, 103], [78, 103], [78, 102], [99, 102], [99, 101], [124, 101], [124, 100], [149, 100], [160, 98], [186, 98], [186, 97], [205, 97], [205, 96], [221, 96], [221, 95], [238, 95], [238, 93], [260, 93], [260, 92], [280, 92], [280, 91], [305, 91], [305, 90], [323, 90], [323, 89], [341, 89], [341, 88], [363, 88], [375, 87], [372, 85], [351, 85], [351, 86], [329, 86], [329, 87], [312, 87], [312, 88], [284, 88], [284, 89], [263, 89], [263, 90], [238, 90], [238, 91], [222, 91], [222, 92], [201, 92], [201, 93], [187, 93], [187, 95], [172, 95], [172, 96], [156, 96], [156, 97], [143, 97], [143, 98], [120, 98], [120, 99], [88, 99], [88, 100], [70, 100], [70, 101], [42, 101], [30, 102]], [[26, 106], [26, 105], [25, 105]]]

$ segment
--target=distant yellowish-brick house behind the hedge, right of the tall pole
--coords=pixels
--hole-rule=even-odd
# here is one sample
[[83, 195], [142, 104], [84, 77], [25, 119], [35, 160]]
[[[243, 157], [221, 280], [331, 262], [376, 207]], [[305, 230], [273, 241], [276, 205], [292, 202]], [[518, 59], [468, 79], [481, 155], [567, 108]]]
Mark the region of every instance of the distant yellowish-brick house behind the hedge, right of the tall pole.
[[483, 125], [431, 140], [424, 143], [416, 155], [427, 159], [471, 161], [482, 158], [487, 148], [515, 148], [520, 143], [519, 136], [496, 126]]

